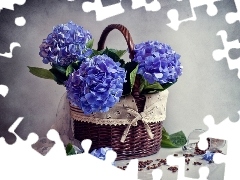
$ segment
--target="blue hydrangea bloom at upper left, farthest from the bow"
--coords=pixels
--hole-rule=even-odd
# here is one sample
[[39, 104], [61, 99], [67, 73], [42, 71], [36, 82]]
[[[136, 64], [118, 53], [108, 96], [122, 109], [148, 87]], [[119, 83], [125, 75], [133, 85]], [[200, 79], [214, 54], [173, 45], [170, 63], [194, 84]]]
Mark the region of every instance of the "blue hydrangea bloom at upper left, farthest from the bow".
[[72, 21], [60, 24], [43, 40], [39, 46], [39, 55], [43, 57], [45, 64], [67, 66], [91, 55], [92, 51], [86, 48], [86, 43], [91, 39], [89, 31]]

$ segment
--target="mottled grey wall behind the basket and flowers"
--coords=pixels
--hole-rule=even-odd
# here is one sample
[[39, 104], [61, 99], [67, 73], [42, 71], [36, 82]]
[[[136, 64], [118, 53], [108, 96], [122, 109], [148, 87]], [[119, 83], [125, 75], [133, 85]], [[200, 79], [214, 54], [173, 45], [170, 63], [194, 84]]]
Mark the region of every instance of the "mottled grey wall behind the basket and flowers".
[[[207, 15], [206, 6], [196, 8], [197, 21], [181, 24], [178, 31], [166, 25], [170, 22], [167, 12], [176, 8], [180, 19], [191, 17], [188, 1], [161, 0], [162, 7], [158, 12], [147, 12], [144, 7], [132, 10], [131, 1], [122, 0], [124, 14], [99, 22], [94, 11], [83, 12], [83, 2], [27, 0], [25, 5], [15, 6], [15, 11], [3, 9], [0, 12], [0, 53], [9, 52], [11, 42], [21, 44], [20, 48], [14, 49], [13, 58], [0, 56], [0, 84], [10, 89], [5, 98], [0, 96], [0, 137], [5, 137], [7, 143], [15, 141], [8, 128], [18, 117], [24, 117], [16, 130], [23, 139], [30, 132], [45, 136], [53, 124], [65, 89], [53, 81], [31, 75], [27, 66], [50, 68], [50, 65], [42, 63], [38, 55], [39, 45], [53, 26], [69, 20], [92, 33], [95, 48], [102, 30], [111, 23], [120, 23], [129, 29], [135, 43], [159, 40], [170, 44], [181, 55], [183, 75], [169, 88], [167, 118], [164, 121], [169, 133], [183, 130], [188, 135], [195, 128], [207, 129], [203, 118], [208, 114], [213, 115], [216, 123], [227, 117], [232, 121], [239, 119], [240, 81], [237, 70], [230, 71], [226, 59], [216, 62], [212, 57], [215, 49], [223, 48], [221, 38], [216, 36], [219, 30], [227, 31], [228, 41], [239, 38], [239, 22], [229, 25], [225, 21], [228, 12], [236, 12], [233, 0], [215, 3], [218, 14], [214, 17]], [[117, 2], [103, 1], [103, 4]], [[19, 16], [26, 19], [23, 27], [14, 24]], [[110, 33], [106, 44], [126, 49], [124, 38], [118, 31]], [[239, 52], [231, 50], [230, 57], [238, 58]]]

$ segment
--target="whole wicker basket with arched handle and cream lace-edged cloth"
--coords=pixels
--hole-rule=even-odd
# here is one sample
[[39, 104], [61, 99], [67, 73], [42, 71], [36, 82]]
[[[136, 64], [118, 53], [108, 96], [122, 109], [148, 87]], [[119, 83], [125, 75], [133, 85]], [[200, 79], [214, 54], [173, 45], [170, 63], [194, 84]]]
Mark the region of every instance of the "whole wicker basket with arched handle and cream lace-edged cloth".
[[[104, 48], [106, 37], [113, 29], [118, 29], [122, 32], [128, 43], [128, 49], [130, 51], [129, 57], [133, 59], [134, 45], [132, 38], [128, 30], [122, 25], [113, 24], [105, 28], [98, 43], [98, 50]], [[78, 107], [70, 104], [74, 138], [79, 141], [91, 139], [92, 146], [90, 151], [102, 147], [112, 148], [117, 153], [116, 160], [146, 157], [157, 153], [161, 148], [162, 120], [164, 120], [166, 116], [168, 91], [165, 90], [153, 95], [141, 95], [139, 93], [139, 86], [140, 79], [137, 76], [132, 95], [130, 95], [127, 100], [125, 99], [117, 103], [117, 105], [110, 109], [109, 113], [103, 113], [102, 115], [98, 113], [98, 115], [92, 115], [91, 117], [86, 116]], [[155, 99], [154, 102], [150, 100], [151, 98]], [[158, 105], [154, 105], [154, 103]], [[156, 107], [148, 114], [151, 117], [151, 114], [156, 113], [155, 117], [158, 119], [155, 118], [151, 120], [150, 118], [146, 121], [139, 119], [137, 122], [131, 124], [131, 121], [135, 117], [129, 117], [131, 113], [129, 114], [126, 108], [130, 107], [133, 111], [141, 113], [152, 105]], [[109, 116], [109, 114], [112, 115]], [[94, 120], [94, 118], [96, 119]], [[109, 123], [108, 120], [111, 122]], [[121, 142], [121, 138], [129, 124], [131, 124], [131, 126], [125, 135], [124, 142]], [[151, 133], [149, 133], [149, 131], [151, 131]], [[150, 137], [149, 134], [152, 134], [153, 137]]]

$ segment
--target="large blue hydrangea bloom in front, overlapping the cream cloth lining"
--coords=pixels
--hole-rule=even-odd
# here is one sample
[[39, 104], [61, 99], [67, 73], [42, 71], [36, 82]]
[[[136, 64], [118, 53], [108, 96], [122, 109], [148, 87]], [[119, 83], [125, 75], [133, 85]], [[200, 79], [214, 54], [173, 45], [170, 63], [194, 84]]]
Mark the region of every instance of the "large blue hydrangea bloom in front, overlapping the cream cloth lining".
[[82, 62], [65, 82], [69, 100], [85, 114], [107, 112], [122, 96], [126, 72], [107, 55]]

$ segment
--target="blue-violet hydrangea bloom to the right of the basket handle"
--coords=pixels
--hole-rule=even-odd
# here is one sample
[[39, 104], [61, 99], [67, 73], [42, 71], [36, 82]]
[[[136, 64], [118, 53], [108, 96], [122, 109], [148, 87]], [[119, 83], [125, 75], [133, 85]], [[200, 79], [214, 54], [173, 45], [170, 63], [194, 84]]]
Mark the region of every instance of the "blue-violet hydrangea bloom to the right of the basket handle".
[[182, 75], [180, 55], [172, 48], [158, 41], [148, 41], [135, 45], [134, 61], [138, 62], [138, 74], [150, 84], [174, 83]]

